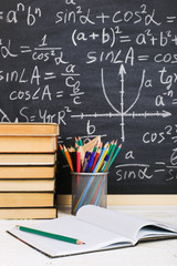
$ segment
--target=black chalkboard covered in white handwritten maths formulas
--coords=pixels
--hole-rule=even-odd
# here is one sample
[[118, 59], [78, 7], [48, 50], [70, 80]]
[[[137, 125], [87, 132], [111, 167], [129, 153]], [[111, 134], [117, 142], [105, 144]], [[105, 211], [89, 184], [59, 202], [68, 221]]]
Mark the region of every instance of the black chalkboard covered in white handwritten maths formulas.
[[[177, 192], [177, 2], [1, 0], [0, 122], [123, 144], [108, 194]], [[71, 193], [59, 151], [56, 193]]]

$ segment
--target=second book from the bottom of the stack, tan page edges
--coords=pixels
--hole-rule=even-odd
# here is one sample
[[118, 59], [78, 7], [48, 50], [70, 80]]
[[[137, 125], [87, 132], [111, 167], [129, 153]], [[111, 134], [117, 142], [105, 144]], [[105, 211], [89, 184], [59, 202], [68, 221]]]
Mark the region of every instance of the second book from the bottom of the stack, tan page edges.
[[0, 192], [0, 207], [52, 207], [52, 192]]

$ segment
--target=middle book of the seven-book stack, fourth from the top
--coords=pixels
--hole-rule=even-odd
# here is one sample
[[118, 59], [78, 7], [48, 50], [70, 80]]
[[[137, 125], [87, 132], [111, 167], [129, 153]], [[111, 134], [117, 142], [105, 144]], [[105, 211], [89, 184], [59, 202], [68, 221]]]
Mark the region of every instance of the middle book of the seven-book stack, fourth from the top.
[[4, 178], [53, 178], [55, 176], [56, 165], [33, 166], [33, 165], [1, 165], [0, 180]]

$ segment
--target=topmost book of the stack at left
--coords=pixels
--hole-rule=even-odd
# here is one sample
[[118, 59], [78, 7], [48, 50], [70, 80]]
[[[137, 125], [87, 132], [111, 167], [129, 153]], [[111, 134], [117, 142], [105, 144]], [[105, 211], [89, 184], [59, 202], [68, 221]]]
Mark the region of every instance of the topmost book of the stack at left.
[[0, 135], [59, 135], [56, 123], [0, 123]]

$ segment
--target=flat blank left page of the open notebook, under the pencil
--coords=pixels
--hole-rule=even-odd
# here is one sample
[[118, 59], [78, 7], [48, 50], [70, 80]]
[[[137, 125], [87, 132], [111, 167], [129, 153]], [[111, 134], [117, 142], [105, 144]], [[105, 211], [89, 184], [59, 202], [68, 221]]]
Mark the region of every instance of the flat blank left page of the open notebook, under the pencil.
[[75, 245], [66, 242], [61, 242], [25, 232], [17, 228], [9, 231], [23, 242], [42, 250], [50, 256], [65, 256], [70, 254], [85, 253], [96, 249], [102, 249], [113, 243], [127, 245], [128, 239], [107, 232], [103, 228], [95, 227], [92, 224], [77, 221], [75, 217], [61, 217], [50, 222], [43, 222], [38, 226], [30, 226], [31, 228], [45, 231], [59, 235], [70, 236], [84, 242], [84, 245]]

